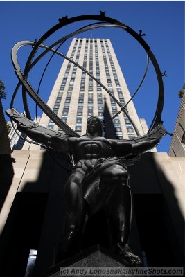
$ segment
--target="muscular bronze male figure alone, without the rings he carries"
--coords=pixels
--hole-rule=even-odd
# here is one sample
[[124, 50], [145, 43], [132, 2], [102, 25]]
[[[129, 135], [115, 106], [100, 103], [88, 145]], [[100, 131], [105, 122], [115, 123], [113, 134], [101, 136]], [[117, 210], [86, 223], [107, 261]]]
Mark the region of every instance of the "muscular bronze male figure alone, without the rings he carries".
[[154, 148], [159, 139], [131, 143], [105, 139], [100, 119], [87, 120], [87, 134], [80, 138], [47, 136], [18, 125], [30, 139], [60, 152], [73, 155], [75, 166], [64, 188], [64, 233], [55, 251], [55, 263], [76, 253], [82, 238], [85, 218], [103, 209], [109, 222], [112, 249], [121, 255], [125, 265], [141, 265], [139, 257], [128, 247], [132, 217], [132, 190], [127, 166], [121, 158], [140, 155]]

